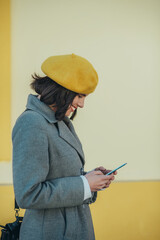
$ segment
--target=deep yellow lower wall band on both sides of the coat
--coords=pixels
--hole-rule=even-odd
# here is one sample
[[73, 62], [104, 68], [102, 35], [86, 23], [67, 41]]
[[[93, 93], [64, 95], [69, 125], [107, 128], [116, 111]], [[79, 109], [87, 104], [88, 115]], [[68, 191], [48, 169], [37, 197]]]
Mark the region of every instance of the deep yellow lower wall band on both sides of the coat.
[[[1, 186], [0, 196], [0, 224], [5, 224], [14, 220], [12, 186]], [[113, 183], [91, 205], [96, 240], [159, 240], [159, 203], [160, 182]]]

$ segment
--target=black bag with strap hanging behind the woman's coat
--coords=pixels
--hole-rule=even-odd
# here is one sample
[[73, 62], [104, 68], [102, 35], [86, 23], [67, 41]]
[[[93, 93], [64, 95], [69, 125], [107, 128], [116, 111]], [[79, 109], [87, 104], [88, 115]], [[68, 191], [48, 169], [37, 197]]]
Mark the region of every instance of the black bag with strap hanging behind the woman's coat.
[[18, 240], [19, 239], [19, 232], [23, 217], [19, 217], [19, 206], [15, 200], [15, 217], [16, 221], [12, 223], [7, 223], [5, 226], [0, 225], [2, 228], [1, 232], [1, 240]]

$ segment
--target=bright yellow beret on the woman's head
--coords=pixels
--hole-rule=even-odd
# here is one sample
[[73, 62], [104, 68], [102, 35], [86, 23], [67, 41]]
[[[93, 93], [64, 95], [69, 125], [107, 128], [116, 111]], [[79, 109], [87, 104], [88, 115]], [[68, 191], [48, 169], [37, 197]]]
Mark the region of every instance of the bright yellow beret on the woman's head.
[[42, 63], [41, 69], [59, 85], [81, 94], [93, 92], [98, 83], [92, 64], [75, 54], [49, 57]]

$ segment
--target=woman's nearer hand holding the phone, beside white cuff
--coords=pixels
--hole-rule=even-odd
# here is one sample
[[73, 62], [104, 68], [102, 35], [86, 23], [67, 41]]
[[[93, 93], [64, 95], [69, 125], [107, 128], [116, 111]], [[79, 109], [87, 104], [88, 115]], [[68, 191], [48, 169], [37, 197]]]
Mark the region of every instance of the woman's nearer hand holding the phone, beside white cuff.
[[114, 180], [114, 175], [104, 175], [102, 171], [91, 171], [84, 175], [89, 183], [91, 192], [96, 192], [102, 188], [107, 188], [111, 184], [111, 181]]

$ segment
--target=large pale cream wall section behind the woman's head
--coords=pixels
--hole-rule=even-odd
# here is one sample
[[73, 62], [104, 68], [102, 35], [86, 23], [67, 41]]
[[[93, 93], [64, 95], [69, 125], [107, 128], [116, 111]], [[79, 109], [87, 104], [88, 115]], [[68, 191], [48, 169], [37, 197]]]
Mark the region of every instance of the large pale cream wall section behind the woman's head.
[[75, 120], [86, 168], [128, 162], [118, 180], [160, 179], [160, 1], [11, 2], [12, 124], [43, 60], [75, 53], [99, 74]]

